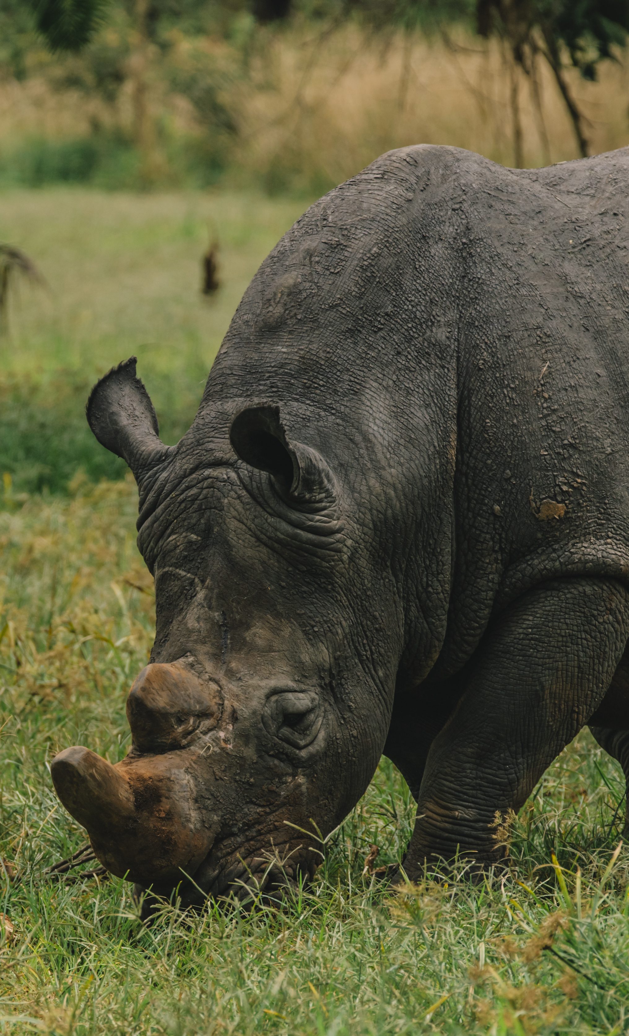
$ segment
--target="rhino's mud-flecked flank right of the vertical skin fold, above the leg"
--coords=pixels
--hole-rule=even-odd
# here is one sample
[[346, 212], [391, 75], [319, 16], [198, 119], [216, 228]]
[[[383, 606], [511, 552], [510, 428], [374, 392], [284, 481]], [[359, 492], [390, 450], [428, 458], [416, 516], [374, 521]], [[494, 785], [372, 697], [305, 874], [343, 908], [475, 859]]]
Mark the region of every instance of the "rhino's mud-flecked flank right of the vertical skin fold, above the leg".
[[532, 585], [629, 574], [628, 189], [627, 149], [474, 178], [444, 671]]

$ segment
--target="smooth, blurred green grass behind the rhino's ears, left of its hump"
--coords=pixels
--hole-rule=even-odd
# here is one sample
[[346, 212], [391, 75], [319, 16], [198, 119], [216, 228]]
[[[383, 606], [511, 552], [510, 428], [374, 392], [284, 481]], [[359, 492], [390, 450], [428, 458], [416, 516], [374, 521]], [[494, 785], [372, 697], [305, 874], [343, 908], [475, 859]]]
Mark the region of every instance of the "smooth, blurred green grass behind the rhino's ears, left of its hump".
[[[48, 282], [16, 281], [0, 336], [0, 473], [16, 492], [65, 492], [123, 465], [96, 443], [84, 407], [95, 379], [132, 354], [167, 441], [190, 427], [231, 316], [264, 256], [305, 208], [254, 194], [0, 193], [0, 242]], [[208, 236], [222, 287], [200, 293]]]

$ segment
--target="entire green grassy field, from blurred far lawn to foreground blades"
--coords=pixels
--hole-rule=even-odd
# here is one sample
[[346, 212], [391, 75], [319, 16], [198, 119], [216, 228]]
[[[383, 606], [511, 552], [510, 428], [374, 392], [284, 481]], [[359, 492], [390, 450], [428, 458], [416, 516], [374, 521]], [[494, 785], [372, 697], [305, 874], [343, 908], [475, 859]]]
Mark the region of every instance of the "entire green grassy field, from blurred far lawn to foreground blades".
[[[137, 352], [176, 437], [241, 291], [299, 208], [237, 194], [0, 196], [0, 237], [50, 284], [23, 286], [0, 358], [0, 1033], [621, 1036], [624, 783], [589, 735], [522, 811], [512, 870], [484, 885], [461, 872], [392, 897], [364, 874], [370, 845], [378, 864], [399, 859], [412, 823], [387, 761], [312, 889], [281, 912], [165, 905], [147, 928], [125, 882], [46, 873], [85, 840], [48, 764], [70, 744], [125, 754], [125, 696], [152, 637], [135, 487], [94, 484], [119, 469], [83, 431], [87, 388]], [[224, 281], [209, 305], [198, 294], [208, 221]], [[35, 493], [41, 456], [48, 491]]]

